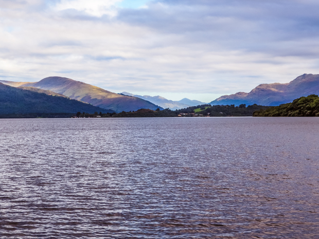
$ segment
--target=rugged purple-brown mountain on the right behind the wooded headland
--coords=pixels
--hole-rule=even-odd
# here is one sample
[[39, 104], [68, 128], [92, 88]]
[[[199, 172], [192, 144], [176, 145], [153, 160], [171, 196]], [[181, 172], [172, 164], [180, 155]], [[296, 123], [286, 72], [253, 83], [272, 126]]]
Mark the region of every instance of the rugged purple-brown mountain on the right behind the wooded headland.
[[261, 84], [250, 93], [239, 92], [229, 96], [222, 96], [211, 105], [240, 104], [277, 106], [292, 102], [302, 96], [319, 95], [319, 75], [304, 74], [285, 84]]

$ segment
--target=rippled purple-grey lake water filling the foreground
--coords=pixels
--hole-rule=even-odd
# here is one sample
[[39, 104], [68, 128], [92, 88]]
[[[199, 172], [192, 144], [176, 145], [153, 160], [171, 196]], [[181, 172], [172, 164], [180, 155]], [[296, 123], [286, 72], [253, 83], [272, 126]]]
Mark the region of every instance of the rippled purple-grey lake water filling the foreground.
[[0, 120], [1, 238], [319, 238], [319, 118]]

